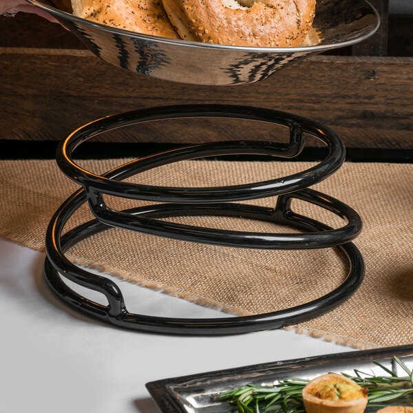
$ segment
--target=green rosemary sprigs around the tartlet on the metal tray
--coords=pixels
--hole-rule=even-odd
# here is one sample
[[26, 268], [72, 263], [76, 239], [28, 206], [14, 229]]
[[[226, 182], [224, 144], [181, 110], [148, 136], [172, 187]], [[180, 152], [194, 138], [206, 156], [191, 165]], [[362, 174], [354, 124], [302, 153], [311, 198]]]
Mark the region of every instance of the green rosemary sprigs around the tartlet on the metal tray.
[[[407, 373], [398, 377], [378, 361], [373, 361], [390, 376], [376, 376], [354, 369], [354, 376], [343, 374], [363, 388], [368, 388], [368, 406], [379, 406], [395, 399], [413, 394], [413, 370], [394, 357], [394, 361]], [[242, 388], [219, 394], [216, 399], [236, 405], [239, 413], [305, 413], [301, 397], [302, 390], [308, 383], [306, 379], [284, 379], [276, 385], [248, 384]]]

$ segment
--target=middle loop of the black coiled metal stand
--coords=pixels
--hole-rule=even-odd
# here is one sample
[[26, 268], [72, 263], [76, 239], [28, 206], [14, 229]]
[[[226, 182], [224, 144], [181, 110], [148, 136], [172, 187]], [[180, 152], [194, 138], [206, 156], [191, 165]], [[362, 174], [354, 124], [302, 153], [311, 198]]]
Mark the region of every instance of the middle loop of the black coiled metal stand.
[[[302, 189], [293, 194], [281, 195], [275, 209], [265, 209], [266, 220], [297, 224], [299, 222], [297, 217], [300, 215], [295, 214], [289, 208], [290, 200], [297, 198], [336, 213], [344, 218], [348, 224], [339, 229], [330, 228], [303, 234], [229, 231], [147, 218], [147, 211], [150, 211], [153, 207], [149, 207], [147, 210], [142, 209], [142, 213], [136, 215], [124, 211], [115, 211], [105, 205], [100, 194], [95, 193], [95, 195], [94, 197], [89, 194], [89, 207], [100, 222], [116, 228], [200, 244], [262, 249], [328, 248], [350, 242], [359, 235], [362, 226], [361, 218], [354, 209], [335, 198], [311, 189]], [[167, 204], [164, 208], [167, 211], [176, 211], [179, 208], [176, 205], [182, 207], [182, 213], [185, 211], [185, 215], [209, 215], [215, 214], [216, 211], [224, 214], [225, 212], [236, 211], [237, 216], [252, 218], [245, 213], [248, 206], [243, 204], [236, 204], [236, 209], [232, 203], [191, 204], [190, 208], [188, 204]], [[301, 222], [301, 227], [307, 229], [308, 226], [305, 223], [306, 221]]]

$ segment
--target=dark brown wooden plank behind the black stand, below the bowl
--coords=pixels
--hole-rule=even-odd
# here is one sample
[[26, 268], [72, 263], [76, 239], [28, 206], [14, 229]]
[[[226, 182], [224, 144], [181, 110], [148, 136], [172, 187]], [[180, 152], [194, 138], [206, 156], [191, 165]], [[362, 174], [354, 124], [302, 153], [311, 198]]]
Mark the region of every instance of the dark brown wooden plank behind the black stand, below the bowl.
[[[413, 148], [413, 58], [314, 56], [261, 83], [180, 85], [140, 76], [86, 51], [0, 48], [0, 138], [60, 140], [96, 118], [159, 105], [254, 105], [312, 118], [348, 147]], [[282, 138], [286, 131], [282, 130]], [[279, 128], [174, 120], [103, 137], [140, 142], [279, 139]], [[315, 140], [312, 146], [317, 146]]]

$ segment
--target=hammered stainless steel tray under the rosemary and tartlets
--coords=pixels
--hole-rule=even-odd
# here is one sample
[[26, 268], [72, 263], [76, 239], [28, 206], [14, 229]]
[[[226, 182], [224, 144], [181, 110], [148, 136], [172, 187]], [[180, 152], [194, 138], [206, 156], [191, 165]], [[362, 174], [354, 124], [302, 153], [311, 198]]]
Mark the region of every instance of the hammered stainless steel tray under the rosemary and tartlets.
[[[186, 377], [151, 381], [146, 386], [160, 410], [165, 413], [229, 413], [233, 412], [231, 405], [215, 401], [215, 396], [226, 390], [239, 388], [248, 383], [272, 385], [287, 377], [313, 379], [328, 372], [354, 374], [354, 368], [363, 372], [373, 371], [379, 375], [388, 375], [372, 361], [379, 361], [396, 374], [405, 375], [405, 372], [392, 362], [393, 356], [400, 357], [407, 367], [413, 368], [413, 346], [400, 346], [276, 361], [193, 374]], [[401, 402], [394, 401], [392, 404], [401, 405]], [[403, 405], [413, 405], [413, 397], [404, 399]], [[377, 412], [378, 408], [369, 407], [366, 413]]]

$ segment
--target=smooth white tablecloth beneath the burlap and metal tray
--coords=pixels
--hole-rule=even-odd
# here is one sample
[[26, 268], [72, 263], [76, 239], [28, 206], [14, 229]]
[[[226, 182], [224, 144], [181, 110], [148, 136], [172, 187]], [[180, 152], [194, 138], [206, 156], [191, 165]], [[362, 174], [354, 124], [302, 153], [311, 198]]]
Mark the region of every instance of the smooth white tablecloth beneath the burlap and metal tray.
[[[0, 239], [0, 412], [159, 413], [148, 381], [351, 350], [284, 330], [175, 337], [105, 326], [52, 295], [43, 257]], [[120, 286], [136, 313], [222, 317], [162, 293]]]

